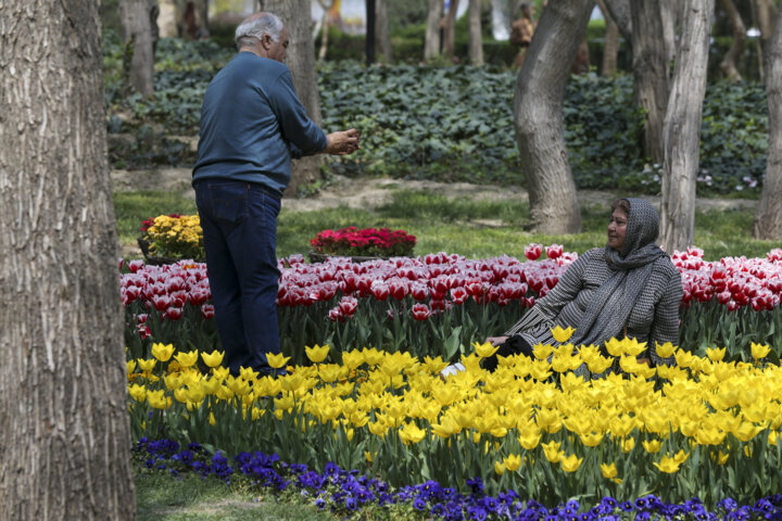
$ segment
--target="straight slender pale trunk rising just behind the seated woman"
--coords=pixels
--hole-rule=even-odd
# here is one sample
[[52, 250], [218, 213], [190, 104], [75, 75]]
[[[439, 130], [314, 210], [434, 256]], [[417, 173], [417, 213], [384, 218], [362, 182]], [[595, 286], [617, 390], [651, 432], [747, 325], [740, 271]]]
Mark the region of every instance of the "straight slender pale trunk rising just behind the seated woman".
[[665, 118], [660, 243], [672, 253], [692, 245], [701, 118], [706, 92], [714, 0], [688, 0]]

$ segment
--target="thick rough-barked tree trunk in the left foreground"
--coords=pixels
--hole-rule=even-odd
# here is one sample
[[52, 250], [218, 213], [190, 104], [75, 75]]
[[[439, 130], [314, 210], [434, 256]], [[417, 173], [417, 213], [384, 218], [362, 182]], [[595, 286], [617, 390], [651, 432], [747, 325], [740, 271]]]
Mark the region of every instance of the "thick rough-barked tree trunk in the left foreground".
[[0, 10], [3, 521], [135, 517], [98, 4]]

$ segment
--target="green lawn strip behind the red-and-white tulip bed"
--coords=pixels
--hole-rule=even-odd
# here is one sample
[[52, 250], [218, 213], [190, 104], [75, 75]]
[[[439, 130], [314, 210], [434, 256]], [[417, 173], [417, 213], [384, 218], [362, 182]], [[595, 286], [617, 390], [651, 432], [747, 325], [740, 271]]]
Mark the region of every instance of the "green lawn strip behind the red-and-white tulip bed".
[[[510, 255], [524, 257], [530, 242], [563, 244], [583, 253], [605, 243], [609, 200], [581, 208], [582, 232], [545, 236], [529, 231], [529, 206], [515, 200], [475, 201], [449, 199], [431, 191], [390, 189], [393, 198], [384, 206], [368, 211], [338, 207], [314, 212], [280, 212], [277, 254], [288, 256], [310, 251], [310, 240], [320, 230], [348, 226], [401, 228], [418, 238], [416, 254], [447, 252], [471, 258]], [[166, 213], [194, 213], [195, 204], [176, 193], [118, 192], [114, 195], [119, 237], [134, 243], [141, 220]], [[752, 239], [749, 209], [696, 211], [695, 244], [705, 258], [765, 256], [779, 244]]]

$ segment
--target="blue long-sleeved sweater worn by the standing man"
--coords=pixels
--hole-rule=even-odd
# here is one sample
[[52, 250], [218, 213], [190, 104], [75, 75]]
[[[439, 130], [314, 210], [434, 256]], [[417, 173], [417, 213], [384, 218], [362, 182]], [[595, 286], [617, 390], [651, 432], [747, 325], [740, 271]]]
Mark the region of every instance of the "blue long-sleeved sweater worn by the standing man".
[[225, 178], [282, 193], [291, 157], [315, 154], [326, 144], [326, 135], [299, 101], [288, 67], [240, 52], [206, 88], [193, 182]]

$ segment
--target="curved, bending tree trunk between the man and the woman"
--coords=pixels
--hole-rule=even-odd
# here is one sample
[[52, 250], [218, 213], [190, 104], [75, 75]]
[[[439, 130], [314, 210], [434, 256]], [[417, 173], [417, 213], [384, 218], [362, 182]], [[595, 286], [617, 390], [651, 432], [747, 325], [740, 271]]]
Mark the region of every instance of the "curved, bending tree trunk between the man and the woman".
[[581, 214], [563, 131], [563, 100], [594, 0], [550, 0], [516, 79], [514, 123], [530, 220], [542, 233], [576, 233]]

